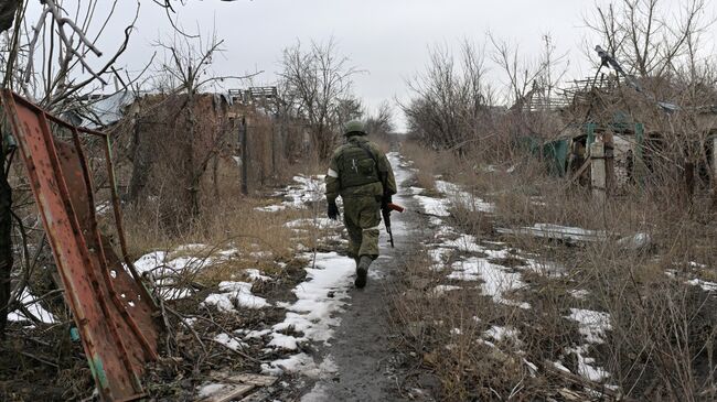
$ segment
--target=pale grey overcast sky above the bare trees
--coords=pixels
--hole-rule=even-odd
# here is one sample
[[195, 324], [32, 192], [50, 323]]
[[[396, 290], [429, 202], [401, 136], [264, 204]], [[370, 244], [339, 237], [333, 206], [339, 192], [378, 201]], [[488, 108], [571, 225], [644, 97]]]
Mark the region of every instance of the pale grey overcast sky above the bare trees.
[[[675, 9], [687, 0], [663, 0]], [[109, 4], [109, 0], [99, 3]], [[188, 32], [215, 31], [225, 40], [224, 54], [215, 58], [217, 74], [264, 70], [256, 85], [271, 85], [282, 48], [301, 42], [334, 37], [351, 64], [365, 70], [354, 77], [355, 94], [373, 108], [384, 100], [406, 99], [406, 79], [426, 64], [429, 46], [456, 45], [462, 39], [485, 42], [486, 32], [518, 43], [526, 57], [537, 57], [543, 34], [550, 33], [559, 53], [570, 62], [568, 77], [590, 74], [585, 44], [585, 18], [607, 0], [188, 0], [178, 7], [178, 24]], [[710, 15], [717, 15], [710, 1]], [[99, 42], [110, 52], [131, 21], [133, 2], [119, 1], [119, 10]], [[29, 13], [30, 14], [30, 13]], [[154, 52], [152, 42], [172, 35], [163, 10], [142, 0], [137, 30], [120, 64], [139, 68]], [[717, 32], [710, 31], [713, 37]], [[586, 41], [587, 40], [587, 41]], [[590, 56], [592, 54], [590, 53]], [[491, 78], [502, 77], [491, 68]], [[238, 86], [238, 85], [237, 85]]]

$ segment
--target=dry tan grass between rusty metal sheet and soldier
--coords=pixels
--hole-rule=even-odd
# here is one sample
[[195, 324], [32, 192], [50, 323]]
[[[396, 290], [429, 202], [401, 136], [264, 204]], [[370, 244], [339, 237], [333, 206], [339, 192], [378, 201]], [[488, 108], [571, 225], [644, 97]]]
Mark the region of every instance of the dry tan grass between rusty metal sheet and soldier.
[[[269, 191], [269, 188], [266, 188]], [[125, 210], [125, 224], [129, 253], [139, 258], [148, 252], [164, 250], [170, 258], [211, 258], [218, 252], [237, 250], [229, 259], [222, 259], [202, 270], [197, 280], [204, 285], [214, 285], [225, 280], [243, 279], [243, 270], [259, 269], [275, 276], [281, 275], [281, 263], [295, 261], [298, 245], [312, 249], [321, 233], [318, 229], [296, 230], [286, 224], [298, 219], [312, 219], [321, 210], [286, 208], [278, 211], [263, 211], [257, 208], [278, 205], [278, 197], [240, 196], [223, 193], [203, 206], [202, 214], [186, 217], [182, 230], [167, 230], [161, 211], [151, 203], [141, 207], [129, 206]], [[204, 245], [196, 250], [173, 251], [184, 245]], [[186, 256], [184, 256], [186, 254]], [[190, 256], [191, 254], [191, 256]]]

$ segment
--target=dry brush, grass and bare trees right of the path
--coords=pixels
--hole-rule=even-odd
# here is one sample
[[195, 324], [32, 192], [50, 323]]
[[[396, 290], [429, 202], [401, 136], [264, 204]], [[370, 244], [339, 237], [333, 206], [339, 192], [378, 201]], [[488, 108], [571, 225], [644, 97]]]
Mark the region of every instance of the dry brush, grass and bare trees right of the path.
[[[403, 267], [406, 280], [394, 298], [396, 330], [418, 368], [405, 389], [432, 388], [447, 401], [717, 398], [716, 289], [700, 282], [717, 278], [717, 187], [708, 155], [715, 118], [705, 112], [717, 91], [711, 58], [697, 41], [709, 24], [704, 6], [693, 1], [667, 18], [653, 0], [597, 9], [588, 25], [629, 72], [609, 77], [611, 89], [588, 83], [559, 107], [550, 104], [560, 64], [549, 37], [535, 63], [489, 37], [488, 55], [502, 70], [513, 105], [505, 109], [494, 108], [496, 94], [482, 84], [480, 52], [468, 44], [458, 57], [434, 52], [413, 83], [414, 100], [404, 106], [414, 142], [402, 151], [418, 169], [416, 185], [427, 189], [424, 195], [438, 195], [440, 177], [494, 205], [486, 214], [459, 203], [447, 222], [484, 247], [500, 241], [510, 250], [511, 257], [494, 262], [520, 273], [524, 285], [507, 296], [531, 308], [481, 295], [480, 284], [490, 279], [478, 286], [447, 279], [427, 249]], [[665, 23], [670, 18], [676, 21], [672, 28]], [[471, 95], [475, 91], [481, 96]], [[674, 102], [672, 111], [655, 106], [662, 99]], [[613, 191], [607, 202], [570, 172], [549, 175], [549, 161], [521, 142], [568, 138], [586, 122], [609, 126], [620, 113], [629, 122], [645, 122], [655, 141], [645, 146], [651, 159], [650, 166], [640, 166], [642, 180]], [[595, 230], [597, 241], [500, 230], [535, 224]], [[456, 259], [453, 252], [446, 265]], [[526, 259], [538, 269], [528, 269]], [[458, 290], [434, 292], [459, 282]], [[603, 343], [585, 352], [610, 373], [604, 383], [576, 374], [585, 370], [569, 350], [585, 334], [567, 318], [571, 308], [609, 317]], [[515, 337], [489, 346], [485, 334], [493, 326], [514, 328]], [[571, 373], [556, 369], [558, 360]]]

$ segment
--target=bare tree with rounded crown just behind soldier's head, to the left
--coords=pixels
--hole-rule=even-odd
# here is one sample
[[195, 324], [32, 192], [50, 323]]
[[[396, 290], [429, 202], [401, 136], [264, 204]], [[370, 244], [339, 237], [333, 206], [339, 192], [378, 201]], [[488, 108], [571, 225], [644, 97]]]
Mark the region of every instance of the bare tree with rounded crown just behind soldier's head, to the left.
[[351, 98], [351, 77], [357, 72], [339, 54], [333, 39], [325, 44], [312, 42], [308, 51], [301, 43], [283, 51], [282, 86], [297, 115], [309, 122], [313, 146], [322, 159], [329, 157], [338, 140], [343, 118], [339, 109]]

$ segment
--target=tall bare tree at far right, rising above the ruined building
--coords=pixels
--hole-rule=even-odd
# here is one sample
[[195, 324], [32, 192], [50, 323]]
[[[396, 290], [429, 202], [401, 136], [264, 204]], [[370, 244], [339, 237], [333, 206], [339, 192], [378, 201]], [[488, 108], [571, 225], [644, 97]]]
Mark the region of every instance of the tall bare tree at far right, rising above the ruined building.
[[[696, 169], [709, 166], [708, 139], [717, 124], [707, 109], [717, 102], [714, 56], [702, 51], [702, 39], [713, 23], [706, 0], [683, 2], [678, 11], [662, 0], [622, 0], [597, 7], [586, 20], [601, 45], [618, 59], [628, 82], [641, 96], [622, 93], [618, 108], [659, 132], [660, 167], [682, 176], [692, 199]], [[713, 119], [714, 120], [714, 119]], [[706, 169], [717, 206], [714, 169]]]

